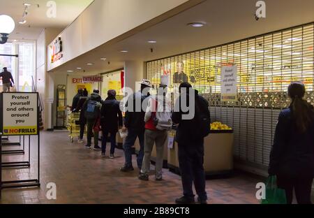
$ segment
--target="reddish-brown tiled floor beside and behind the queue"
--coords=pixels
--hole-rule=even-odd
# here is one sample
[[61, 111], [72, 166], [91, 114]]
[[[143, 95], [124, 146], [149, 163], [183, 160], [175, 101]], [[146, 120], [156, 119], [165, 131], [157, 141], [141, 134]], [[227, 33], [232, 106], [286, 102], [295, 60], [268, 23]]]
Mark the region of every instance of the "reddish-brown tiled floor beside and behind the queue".
[[[15, 140], [12, 138], [12, 140]], [[35, 140], [35, 138], [34, 138]], [[121, 173], [123, 151], [117, 159], [103, 159], [100, 152], [70, 143], [66, 132], [42, 132], [40, 136], [40, 182], [38, 189], [4, 189], [0, 203], [174, 203], [181, 196], [179, 175], [163, 170], [164, 181], [137, 179], [138, 170]], [[14, 147], [5, 147], [5, 150]], [[109, 146], [108, 146], [109, 148]], [[3, 170], [3, 180], [36, 177], [36, 145], [31, 146], [31, 168]], [[20, 161], [24, 156], [3, 155], [3, 161]], [[135, 157], [133, 157], [134, 166]], [[154, 166], [152, 166], [154, 168]], [[57, 200], [46, 198], [46, 185], [57, 184]], [[258, 203], [255, 184], [261, 182], [247, 175], [222, 180], [207, 180], [209, 203]]]

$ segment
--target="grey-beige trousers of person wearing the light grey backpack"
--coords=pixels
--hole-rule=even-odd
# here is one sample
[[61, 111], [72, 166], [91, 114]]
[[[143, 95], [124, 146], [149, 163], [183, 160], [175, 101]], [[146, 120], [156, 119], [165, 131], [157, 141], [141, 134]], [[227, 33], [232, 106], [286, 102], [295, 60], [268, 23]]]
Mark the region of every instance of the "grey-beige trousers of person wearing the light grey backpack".
[[142, 165], [142, 173], [149, 173], [151, 166], [151, 151], [156, 143], [156, 165], [155, 165], [155, 177], [160, 179], [163, 177], [163, 151], [165, 143], [167, 141], [167, 131], [152, 131], [145, 130], [144, 136], [144, 159]]

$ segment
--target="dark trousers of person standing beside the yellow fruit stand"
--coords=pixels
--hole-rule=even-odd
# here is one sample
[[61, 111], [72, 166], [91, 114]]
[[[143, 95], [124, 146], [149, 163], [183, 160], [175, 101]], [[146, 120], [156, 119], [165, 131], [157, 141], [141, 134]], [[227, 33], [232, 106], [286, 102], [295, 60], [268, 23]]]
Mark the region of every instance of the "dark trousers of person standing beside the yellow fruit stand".
[[178, 145], [179, 168], [184, 196], [194, 198], [193, 182], [198, 198], [207, 200], [204, 174], [204, 140]]

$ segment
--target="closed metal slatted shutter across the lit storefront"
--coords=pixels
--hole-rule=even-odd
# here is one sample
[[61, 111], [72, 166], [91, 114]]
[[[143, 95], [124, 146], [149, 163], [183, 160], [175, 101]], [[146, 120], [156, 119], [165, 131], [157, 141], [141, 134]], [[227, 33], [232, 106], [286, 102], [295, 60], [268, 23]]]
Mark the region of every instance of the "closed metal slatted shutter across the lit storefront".
[[[314, 104], [314, 23], [304, 24], [234, 43], [218, 45], [174, 57], [147, 62], [147, 78], [155, 85], [160, 75], [171, 75], [170, 92], [179, 61], [189, 82], [210, 103], [213, 121], [234, 129], [234, 157], [268, 166], [278, 115], [290, 100], [292, 81], [306, 86], [306, 99]], [[220, 68], [238, 67], [237, 102], [220, 101]], [[172, 99], [174, 100], [174, 99]]]

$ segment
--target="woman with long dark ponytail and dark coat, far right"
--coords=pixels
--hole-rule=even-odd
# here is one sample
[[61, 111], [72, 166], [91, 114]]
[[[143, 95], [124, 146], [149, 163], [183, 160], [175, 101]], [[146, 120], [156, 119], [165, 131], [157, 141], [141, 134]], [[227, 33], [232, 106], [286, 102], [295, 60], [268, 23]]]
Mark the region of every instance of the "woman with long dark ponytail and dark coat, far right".
[[293, 190], [297, 203], [311, 204], [314, 108], [303, 99], [305, 93], [301, 82], [293, 82], [288, 87], [292, 103], [279, 115], [269, 158], [269, 175], [277, 176], [278, 188], [285, 189], [288, 204], [292, 203]]

